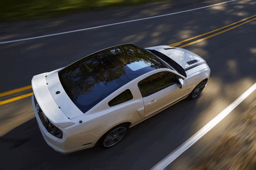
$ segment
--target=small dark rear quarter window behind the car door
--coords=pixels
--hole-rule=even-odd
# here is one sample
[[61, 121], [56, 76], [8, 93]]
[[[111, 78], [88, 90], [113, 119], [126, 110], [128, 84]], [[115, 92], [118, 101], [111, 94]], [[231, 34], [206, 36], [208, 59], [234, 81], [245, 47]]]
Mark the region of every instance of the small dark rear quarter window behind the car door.
[[111, 106], [115, 106], [115, 105], [127, 102], [132, 99], [133, 99], [132, 93], [129, 89], [127, 89], [122, 93], [120, 93], [119, 95], [117, 95], [114, 99], [110, 100], [108, 102], [108, 105], [111, 107]]

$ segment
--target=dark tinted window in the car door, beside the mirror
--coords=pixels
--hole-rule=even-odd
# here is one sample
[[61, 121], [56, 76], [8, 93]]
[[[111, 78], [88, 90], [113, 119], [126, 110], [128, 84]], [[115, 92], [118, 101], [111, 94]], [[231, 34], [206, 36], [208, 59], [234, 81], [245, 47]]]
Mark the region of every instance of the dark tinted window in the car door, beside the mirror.
[[176, 76], [175, 74], [164, 71], [153, 74], [138, 83], [142, 97], [146, 97], [154, 92], [157, 92], [167, 86], [175, 84]]

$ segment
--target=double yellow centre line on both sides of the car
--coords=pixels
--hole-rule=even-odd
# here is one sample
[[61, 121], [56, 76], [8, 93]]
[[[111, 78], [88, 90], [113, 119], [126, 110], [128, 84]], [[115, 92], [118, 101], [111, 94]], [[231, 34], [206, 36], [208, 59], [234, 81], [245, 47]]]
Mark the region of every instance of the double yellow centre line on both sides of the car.
[[[188, 45], [191, 45], [191, 44], [194, 44], [194, 43], [197, 43], [197, 42], [200, 42], [200, 41], [209, 39], [209, 38], [211, 38], [211, 37], [217, 36], [217, 35], [219, 35], [219, 34], [222, 34], [222, 33], [225, 33], [225, 32], [227, 32], [227, 31], [229, 31], [229, 30], [232, 30], [232, 29], [234, 29], [234, 28], [237, 28], [237, 27], [239, 27], [239, 26], [241, 26], [241, 25], [244, 25], [244, 24], [246, 24], [246, 23], [248, 23], [248, 22], [251, 22], [251, 21], [253, 21], [253, 20], [256, 19], [256, 18], [253, 18], [253, 17], [256, 17], [256, 15], [253, 15], [253, 16], [251, 16], [251, 17], [242, 19], [242, 20], [240, 20], [240, 21], [237, 21], [237, 22], [232, 23], [232, 24], [229, 24], [229, 25], [227, 25], [227, 26], [218, 28], [218, 29], [216, 29], [216, 30], [213, 30], [213, 31], [210, 31], [210, 32], [201, 34], [201, 35], [199, 35], [199, 36], [195, 36], [195, 37], [192, 37], [192, 38], [189, 38], [189, 39], [180, 41], [180, 42], [172, 43], [172, 44], [170, 44], [169, 46], [177, 46], [177, 47], [183, 48], [183, 47], [185, 47], [185, 46], [188, 46]], [[250, 18], [253, 18], [253, 19], [248, 20], [248, 19], [250, 19]], [[248, 21], [245, 21], [245, 20], [248, 20]], [[245, 22], [243, 22], [243, 21], [245, 21]], [[240, 23], [240, 22], [243, 22], [243, 23], [238, 24], [238, 23]], [[230, 27], [230, 26], [235, 25], [235, 24], [238, 24], [238, 25], [233, 26], [233, 27]], [[196, 38], [199, 38], [199, 37], [202, 37], [202, 36], [205, 36], [205, 35], [214, 33], [214, 32], [216, 32], [216, 31], [222, 30], [222, 29], [227, 28], [227, 27], [230, 27], [230, 28], [228, 28], [228, 29], [226, 29], [226, 30], [223, 30], [223, 31], [221, 31], [221, 32], [217, 32], [217, 33], [212, 34], [212, 35], [210, 35], [210, 36], [207, 36], [207, 37], [198, 39], [198, 40], [196, 40], [196, 41], [183, 44], [184, 42], [187, 42], [187, 41], [190, 41], [190, 40], [194, 40], [194, 39], [196, 39]], [[181, 45], [181, 44], [183, 44], [183, 45]], [[178, 46], [178, 45], [179, 45], [179, 46]], [[31, 89], [31, 88], [32, 88], [32, 86], [29, 85], [29, 86], [17, 88], [17, 89], [14, 89], [14, 90], [10, 90], [10, 91], [7, 91], [7, 92], [3, 92], [3, 93], [0, 93], [0, 97], [2, 97], [2, 96], [7, 96], [7, 95], [10, 95], [10, 94], [13, 94], [13, 93], [17, 93], [17, 92], [21, 92], [21, 91], [24, 91], [24, 90], [27, 90], [27, 89]], [[6, 104], [6, 103], [10, 103], [10, 102], [13, 102], [13, 101], [16, 101], [16, 100], [19, 100], [19, 99], [23, 99], [23, 98], [25, 98], [25, 97], [29, 97], [29, 96], [32, 96], [32, 95], [33, 95], [33, 92], [32, 92], [32, 93], [28, 93], [28, 94], [24, 94], [24, 95], [21, 95], [21, 96], [18, 96], [18, 97], [14, 97], [14, 98], [11, 98], [11, 99], [3, 100], [3, 101], [0, 101], [0, 105]]]

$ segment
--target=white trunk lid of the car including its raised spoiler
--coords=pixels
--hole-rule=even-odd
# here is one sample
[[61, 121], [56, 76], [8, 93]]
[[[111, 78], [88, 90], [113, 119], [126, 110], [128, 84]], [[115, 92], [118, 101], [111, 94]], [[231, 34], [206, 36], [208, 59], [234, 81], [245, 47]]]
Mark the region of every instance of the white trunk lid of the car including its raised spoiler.
[[[42, 73], [32, 78], [34, 96], [45, 116], [54, 124], [67, 127], [75, 124], [72, 118], [83, 113], [65, 93], [58, 72]], [[56, 94], [60, 91], [59, 94]]]

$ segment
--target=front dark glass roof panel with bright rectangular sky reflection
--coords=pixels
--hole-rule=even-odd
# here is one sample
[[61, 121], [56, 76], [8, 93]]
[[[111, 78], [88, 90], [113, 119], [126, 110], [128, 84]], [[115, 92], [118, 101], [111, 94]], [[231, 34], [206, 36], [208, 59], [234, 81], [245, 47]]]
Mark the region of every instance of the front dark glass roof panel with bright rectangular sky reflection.
[[168, 68], [158, 57], [133, 44], [118, 45], [100, 52], [130, 80], [155, 69]]

